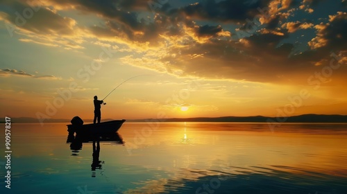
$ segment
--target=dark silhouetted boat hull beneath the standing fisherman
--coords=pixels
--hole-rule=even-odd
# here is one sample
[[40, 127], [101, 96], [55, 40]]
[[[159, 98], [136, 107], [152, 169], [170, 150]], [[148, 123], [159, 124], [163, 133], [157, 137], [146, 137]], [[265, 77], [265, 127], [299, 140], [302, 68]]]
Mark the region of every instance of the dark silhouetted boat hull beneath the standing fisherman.
[[81, 136], [83, 141], [93, 141], [94, 139], [114, 139], [117, 131], [125, 122], [125, 119], [105, 121], [101, 123], [90, 123], [85, 125], [70, 124], [67, 125], [69, 136]]

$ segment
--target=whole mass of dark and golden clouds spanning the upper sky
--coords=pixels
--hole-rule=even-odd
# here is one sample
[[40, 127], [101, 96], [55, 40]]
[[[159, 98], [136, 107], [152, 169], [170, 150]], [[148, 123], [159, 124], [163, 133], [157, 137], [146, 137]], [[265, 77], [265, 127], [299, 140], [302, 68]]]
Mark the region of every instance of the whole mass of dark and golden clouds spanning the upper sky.
[[[23, 2], [6, 1], [11, 11], [3, 11], [1, 18], [13, 24], [13, 12], [21, 12]], [[123, 55], [122, 64], [175, 76], [305, 83], [330, 61], [330, 51], [346, 50], [346, 12], [329, 17], [304, 11], [318, 8], [317, 0], [186, 1], [180, 6], [166, 3], [155, 15], [147, 1], [139, 0], [40, 2], [33, 20], [18, 26], [20, 35], [27, 36], [19, 41], [66, 49], [84, 48], [81, 44], [90, 39], [97, 46], [123, 44], [121, 51], [136, 53]], [[97, 22], [82, 24], [78, 17], [62, 16], [64, 12], [92, 16]], [[323, 20], [298, 14], [320, 14]], [[153, 21], [144, 19], [148, 15]], [[301, 35], [310, 37], [303, 41], [308, 46], [291, 55]]]

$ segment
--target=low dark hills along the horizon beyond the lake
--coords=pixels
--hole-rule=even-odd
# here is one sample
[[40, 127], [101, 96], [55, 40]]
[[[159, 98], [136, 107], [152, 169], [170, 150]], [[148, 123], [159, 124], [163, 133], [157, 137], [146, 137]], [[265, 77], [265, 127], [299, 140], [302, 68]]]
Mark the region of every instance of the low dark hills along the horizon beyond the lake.
[[[103, 121], [110, 121], [112, 118], [102, 119]], [[70, 123], [71, 119], [46, 119], [44, 123]], [[92, 123], [92, 119], [83, 120], [85, 123]], [[221, 116], [221, 117], [196, 117], [196, 118], [162, 118], [153, 120], [148, 119], [128, 119], [128, 122], [147, 122], [147, 121], [160, 121], [160, 122], [257, 122], [265, 123], [282, 122], [285, 123], [347, 123], [347, 115], [339, 114], [303, 114], [298, 116], [289, 116], [286, 118], [276, 118], [268, 116]], [[4, 123], [1, 121], [1, 123]], [[39, 123], [37, 118], [19, 117], [11, 118], [11, 123]]]

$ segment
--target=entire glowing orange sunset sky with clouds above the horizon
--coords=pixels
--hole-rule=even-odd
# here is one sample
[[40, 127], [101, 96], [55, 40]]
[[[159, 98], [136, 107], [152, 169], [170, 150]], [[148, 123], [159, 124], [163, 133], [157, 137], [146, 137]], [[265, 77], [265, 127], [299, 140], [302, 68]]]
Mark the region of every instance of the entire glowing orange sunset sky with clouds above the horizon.
[[346, 32], [346, 0], [0, 0], [0, 116], [92, 118], [126, 80], [102, 118], [347, 114]]

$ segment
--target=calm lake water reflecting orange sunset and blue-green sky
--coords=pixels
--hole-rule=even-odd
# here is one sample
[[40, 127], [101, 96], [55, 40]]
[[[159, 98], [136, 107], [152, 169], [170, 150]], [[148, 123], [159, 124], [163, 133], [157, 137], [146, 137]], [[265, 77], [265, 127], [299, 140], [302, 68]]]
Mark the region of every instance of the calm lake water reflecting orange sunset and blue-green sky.
[[65, 125], [12, 124], [1, 193], [347, 193], [347, 125], [124, 123], [125, 143], [101, 142], [94, 161], [93, 143], [70, 149]]

